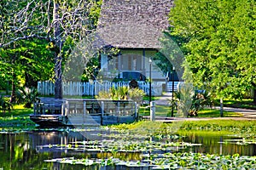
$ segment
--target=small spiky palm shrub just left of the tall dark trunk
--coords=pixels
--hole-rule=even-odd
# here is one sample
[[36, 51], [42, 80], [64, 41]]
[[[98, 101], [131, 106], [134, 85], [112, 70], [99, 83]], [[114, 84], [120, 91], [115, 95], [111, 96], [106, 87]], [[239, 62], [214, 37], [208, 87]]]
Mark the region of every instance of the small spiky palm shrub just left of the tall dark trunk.
[[16, 92], [17, 103], [25, 104], [26, 108], [31, 108], [32, 103], [34, 103], [38, 97], [37, 88], [20, 88]]

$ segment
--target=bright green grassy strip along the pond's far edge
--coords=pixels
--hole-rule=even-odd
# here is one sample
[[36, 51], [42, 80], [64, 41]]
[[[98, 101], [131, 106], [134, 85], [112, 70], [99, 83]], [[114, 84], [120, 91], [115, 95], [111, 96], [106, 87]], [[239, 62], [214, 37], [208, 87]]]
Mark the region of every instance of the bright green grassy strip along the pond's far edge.
[[[172, 123], [140, 121], [131, 124], [119, 124], [108, 126], [112, 129], [129, 130], [134, 133], [155, 132], [165, 134], [172, 132]], [[168, 131], [169, 129], [169, 131]], [[236, 121], [236, 120], [207, 120], [207, 121], [184, 121], [178, 129], [177, 134], [187, 135], [188, 133], [201, 133], [209, 135], [236, 134], [247, 138], [256, 136], [256, 120]]]

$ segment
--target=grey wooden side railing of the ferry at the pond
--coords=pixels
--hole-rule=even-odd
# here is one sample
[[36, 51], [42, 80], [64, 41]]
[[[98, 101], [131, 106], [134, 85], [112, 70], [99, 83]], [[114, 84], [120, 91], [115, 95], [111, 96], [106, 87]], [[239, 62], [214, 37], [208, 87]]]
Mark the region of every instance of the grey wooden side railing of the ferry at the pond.
[[74, 124], [91, 118], [102, 125], [138, 119], [137, 103], [133, 100], [41, 98], [34, 104], [33, 114], [65, 116]]

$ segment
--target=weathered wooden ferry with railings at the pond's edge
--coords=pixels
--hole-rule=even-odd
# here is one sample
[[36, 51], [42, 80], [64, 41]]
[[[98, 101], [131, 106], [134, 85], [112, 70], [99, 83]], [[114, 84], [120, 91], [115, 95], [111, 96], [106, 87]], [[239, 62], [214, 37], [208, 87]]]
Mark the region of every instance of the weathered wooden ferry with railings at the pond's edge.
[[106, 99], [41, 98], [30, 115], [41, 127], [100, 126], [135, 122], [137, 118], [136, 102]]

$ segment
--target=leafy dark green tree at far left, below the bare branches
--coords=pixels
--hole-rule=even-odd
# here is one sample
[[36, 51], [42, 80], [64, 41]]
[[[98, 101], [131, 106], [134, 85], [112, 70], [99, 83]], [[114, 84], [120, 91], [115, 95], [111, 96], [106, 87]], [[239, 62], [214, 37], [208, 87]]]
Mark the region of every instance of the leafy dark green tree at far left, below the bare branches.
[[36, 87], [36, 82], [49, 80], [53, 76], [54, 61], [42, 41], [20, 41], [15, 48], [0, 49], [0, 75], [6, 82], [12, 82], [11, 102], [15, 102], [16, 87]]

